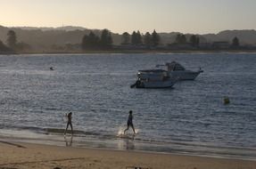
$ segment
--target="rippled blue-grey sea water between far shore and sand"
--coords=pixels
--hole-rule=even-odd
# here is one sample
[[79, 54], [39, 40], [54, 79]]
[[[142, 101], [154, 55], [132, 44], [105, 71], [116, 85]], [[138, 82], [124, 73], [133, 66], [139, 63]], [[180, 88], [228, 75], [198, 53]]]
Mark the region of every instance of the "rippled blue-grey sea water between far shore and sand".
[[[169, 89], [129, 88], [138, 69], [172, 60], [204, 72]], [[0, 138], [256, 159], [255, 63], [255, 53], [1, 55]], [[130, 109], [138, 134], [121, 139]], [[70, 111], [76, 132], [64, 139]]]

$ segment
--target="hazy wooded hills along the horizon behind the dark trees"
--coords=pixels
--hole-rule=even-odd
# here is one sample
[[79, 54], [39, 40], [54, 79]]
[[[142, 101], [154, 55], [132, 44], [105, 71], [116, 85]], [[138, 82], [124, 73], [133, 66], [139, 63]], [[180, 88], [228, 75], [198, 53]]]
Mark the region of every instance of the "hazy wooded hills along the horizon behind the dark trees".
[[[6, 28], [0, 26], [0, 40], [5, 43], [7, 32], [12, 29], [16, 32], [19, 42], [29, 44], [35, 50], [48, 50], [53, 46], [65, 46], [67, 44], [81, 43], [82, 37], [89, 34], [91, 29], [82, 27], [60, 27], [60, 28], [35, 28], [35, 27], [16, 27]], [[100, 36], [99, 29], [93, 29], [96, 35]], [[161, 36], [161, 44], [171, 44], [175, 41], [179, 32], [159, 33]], [[187, 39], [190, 34], [186, 34]], [[256, 45], [256, 31], [255, 30], [225, 30], [218, 34], [199, 35], [200, 42], [215, 42], [228, 41], [237, 36], [241, 44]], [[121, 43], [121, 35], [112, 33], [113, 44], [119, 45]]]

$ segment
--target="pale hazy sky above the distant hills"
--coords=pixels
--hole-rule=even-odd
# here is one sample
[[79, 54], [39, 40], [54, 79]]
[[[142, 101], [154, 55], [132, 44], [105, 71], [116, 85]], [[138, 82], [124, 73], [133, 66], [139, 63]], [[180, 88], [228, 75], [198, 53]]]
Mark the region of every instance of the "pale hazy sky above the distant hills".
[[256, 29], [256, 0], [0, 0], [0, 25], [218, 33]]

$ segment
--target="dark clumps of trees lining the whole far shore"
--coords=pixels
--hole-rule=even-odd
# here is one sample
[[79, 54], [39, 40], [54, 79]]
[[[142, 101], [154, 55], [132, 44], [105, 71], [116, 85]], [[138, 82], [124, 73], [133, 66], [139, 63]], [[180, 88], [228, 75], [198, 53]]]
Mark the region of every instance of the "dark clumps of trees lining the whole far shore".
[[[153, 30], [152, 33], [146, 32], [141, 34], [139, 30], [133, 31], [131, 34], [124, 32], [121, 35], [120, 46], [128, 46], [129, 49], [142, 47], [143, 49], [156, 49], [161, 44], [161, 36]], [[194, 48], [200, 46], [200, 36], [178, 34], [175, 38], [174, 45], [190, 45]], [[113, 40], [111, 31], [103, 29], [100, 36], [97, 36], [94, 31], [90, 31], [88, 35], [82, 37], [81, 41], [82, 50], [110, 50], [113, 47]], [[231, 48], [238, 48], [240, 46], [239, 39], [235, 36], [232, 39]], [[120, 47], [121, 48], [121, 47]], [[0, 40], [0, 52], [15, 52], [29, 49], [29, 44], [17, 41], [16, 33], [9, 30], [7, 33], [6, 43]]]

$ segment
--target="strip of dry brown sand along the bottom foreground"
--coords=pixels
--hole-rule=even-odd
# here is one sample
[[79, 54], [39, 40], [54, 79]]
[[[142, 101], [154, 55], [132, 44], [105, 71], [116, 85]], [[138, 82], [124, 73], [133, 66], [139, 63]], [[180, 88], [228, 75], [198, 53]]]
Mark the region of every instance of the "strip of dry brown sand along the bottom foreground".
[[[256, 161], [0, 142], [0, 169], [254, 169]], [[130, 166], [130, 167], [128, 167]]]

